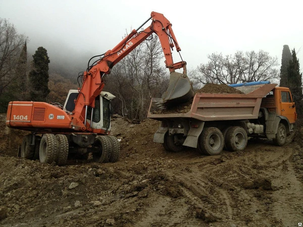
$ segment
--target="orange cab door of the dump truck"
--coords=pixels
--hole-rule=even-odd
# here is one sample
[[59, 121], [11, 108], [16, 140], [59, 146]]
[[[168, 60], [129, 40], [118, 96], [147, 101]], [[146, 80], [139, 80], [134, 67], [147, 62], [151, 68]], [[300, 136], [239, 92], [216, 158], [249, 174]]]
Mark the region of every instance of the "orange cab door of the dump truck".
[[290, 124], [293, 124], [296, 119], [295, 107], [289, 91], [281, 90], [281, 115], [286, 117]]

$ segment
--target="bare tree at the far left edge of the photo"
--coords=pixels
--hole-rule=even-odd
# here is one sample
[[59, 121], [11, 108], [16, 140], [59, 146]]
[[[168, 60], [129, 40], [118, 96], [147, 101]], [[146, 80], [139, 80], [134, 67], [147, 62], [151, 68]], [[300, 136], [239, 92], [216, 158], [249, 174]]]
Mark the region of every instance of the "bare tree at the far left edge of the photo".
[[20, 52], [27, 40], [7, 19], [0, 18], [0, 95], [16, 77]]

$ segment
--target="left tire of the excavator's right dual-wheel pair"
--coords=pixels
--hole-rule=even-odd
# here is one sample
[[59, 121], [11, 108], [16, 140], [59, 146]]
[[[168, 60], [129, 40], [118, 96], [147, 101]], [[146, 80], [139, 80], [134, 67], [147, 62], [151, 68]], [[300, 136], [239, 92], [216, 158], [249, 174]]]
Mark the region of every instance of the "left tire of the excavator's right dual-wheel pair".
[[112, 154], [112, 143], [107, 136], [97, 136], [93, 146], [98, 147], [97, 153], [92, 153], [92, 158], [96, 162], [105, 163], [109, 162]]

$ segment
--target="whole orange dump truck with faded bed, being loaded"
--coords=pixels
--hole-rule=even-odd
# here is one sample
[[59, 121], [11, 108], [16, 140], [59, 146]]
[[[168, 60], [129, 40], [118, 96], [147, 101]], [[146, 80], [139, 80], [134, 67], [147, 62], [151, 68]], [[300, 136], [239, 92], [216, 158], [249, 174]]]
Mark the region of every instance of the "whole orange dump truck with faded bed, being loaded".
[[188, 146], [209, 155], [243, 150], [248, 137], [282, 146], [297, 116], [289, 88], [266, 81], [231, 86], [243, 94], [196, 93], [186, 113], [159, 113], [159, 98], [152, 98], [147, 117], [161, 121], [154, 142], [167, 151]]

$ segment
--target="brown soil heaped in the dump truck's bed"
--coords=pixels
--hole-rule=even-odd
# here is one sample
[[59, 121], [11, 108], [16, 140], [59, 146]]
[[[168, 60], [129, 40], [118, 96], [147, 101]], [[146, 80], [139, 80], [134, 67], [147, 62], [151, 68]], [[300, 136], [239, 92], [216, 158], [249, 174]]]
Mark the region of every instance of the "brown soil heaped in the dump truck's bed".
[[[226, 84], [206, 84], [203, 88], [197, 90], [195, 93], [215, 93], [215, 94], [243, 94], [236, 88], [230, 87]], [[154, 115], [169, 114], [169, 113], [187, 113], [192, 104], [193, 98], [180, 105], [170, 106], [167, 109], [159, 109], [153, 111]]]

